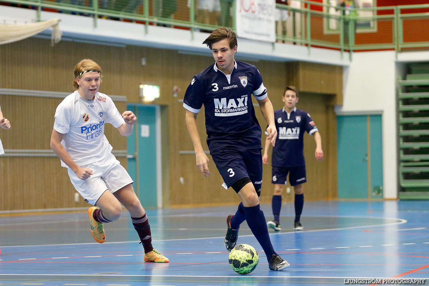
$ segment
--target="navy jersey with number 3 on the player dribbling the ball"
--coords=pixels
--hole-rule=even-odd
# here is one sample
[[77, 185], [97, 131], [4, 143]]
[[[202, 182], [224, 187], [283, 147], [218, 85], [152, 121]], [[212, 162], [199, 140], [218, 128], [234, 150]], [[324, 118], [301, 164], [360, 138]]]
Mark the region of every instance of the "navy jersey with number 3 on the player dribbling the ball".
[[210, 151], [224, 146], [262, 148], [251, 94], [259, 100], [267, 96], [259, 71], [248, 63], [235, 61], [230, 75], [214, 63], [192, 78], [183, 107], [198, 113], [204, 104]]

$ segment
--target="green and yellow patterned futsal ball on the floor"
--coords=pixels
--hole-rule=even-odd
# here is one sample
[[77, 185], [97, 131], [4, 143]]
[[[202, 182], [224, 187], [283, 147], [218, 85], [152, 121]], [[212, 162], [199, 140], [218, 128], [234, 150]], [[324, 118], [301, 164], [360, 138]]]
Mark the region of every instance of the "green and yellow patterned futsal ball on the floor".
[[249, 274], [258, 265], [259, 256], [252, 246], [239, 244], [231, 250], [228, 260], [234, 271], [239, 274]]

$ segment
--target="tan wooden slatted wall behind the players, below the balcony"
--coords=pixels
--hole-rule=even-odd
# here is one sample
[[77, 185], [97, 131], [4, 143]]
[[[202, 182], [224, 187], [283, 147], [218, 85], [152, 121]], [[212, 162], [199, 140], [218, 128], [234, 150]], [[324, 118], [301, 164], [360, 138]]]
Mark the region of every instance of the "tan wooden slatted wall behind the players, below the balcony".
[[[141, 64], [142, 57], [146, 59], [145, 66]], [[60, 42], [51, 48], [48, 40], [30, 38], [0, 45], [0, 62], [2, 63], [0, 88], [71, 93], [73, 92], [71, 85], [73, 67], [82, 58], [91, 58], [103, 68], [103, 83], [100, 86], [100, 92], [108, 95], [127, 96], [130, 103], [141, 102], [140, 84], [160, 86], [160, 98], [152, 104], [161, 105], [162, 114], [163, 205], [178, 207], [227, 205], [239, 202], [239, 198], [233, 190], [224, 190], [221, 187], [223, 180], [210, 155], [208, 155], [209, 168], [212, 175], [204, 178], [196, 167], [194, 154], [179, 154], [179, 151], [193, 151], [184, 120], [185, 109], [180, 100], [183, 99], [193, 75], [213, 63], [211, 57], [178, 54], [177, 51], [168, 49], [136, 46], [109, 47], [74, 42]], [[281, 96], [287, 84], [295, 84], [300, 90], [311, 93], [300, 98], [298, 107], [309, 111], [313, 116], [322, 135], [325, 156], [328, 157], [329, 152], [332, 160], [327, 160], [325, 157], [324, 161], [315, 162], [312, 159], [315, 148], [314, 139], [312, 136], [306, 136], [308, 138], [305, 139], [305, 152], [309, 178], [309, 183], [305, 186], [305, 190], [308, 190], [306, 198], [335, 198], [336, 172], [330, 170], [336, 166], [336, 151], [333, 152], [333, 149], [328, 146], [336, 146], [336, 129], [332, 129], [336, 128], [332, 121], [335, 120], [333, 104], [338, 97], [335, 94], [341, 94], [341, 68], [263, 60], [250, 63], [256, 65], [260, 70], [275, 109], [283, 106]], [[175, 85], [181, 88], [177, 97], [174, 97], [172, 93], [172, 87]], [[60, 101], [60, 99], [52, 98], [0, 96], [2, 111], [12, 123], [11, 130], [0, 130], [5, 149], [49, 149], [53, 115]], [[254, 102], [256, 103], [256, 100]], [[125, 109], [125, 102], [116, 104], [120, 111]], [[259, 108], [256, 107], [255, 111], [260, 125], [265, 129], [266, 122]], [[197, 117], [197, 123], [202, 145], [208, 151], [205, 143], [204, 109]], [[120, 136], [117, 130], [108, 124], [105, 133], [114, 150], [126, 150], [126, 138]], [[265, 135], [263, 138], [265, 139]], [[118, 159], [126, 166], [127, 160], [124, 157]], [[69, 195], [74, 193], [73, 187], [69, 183], [66, 169], [58, 168], [58, 166], [59, 160], [55, 157], [0, 157], [2, 169], [0, 211], [82, 206], [80, 203], [79, 205], [74, 203], [74, 196], [69, 198]], [[21, 182], [16, 182], [10, 180], [4, 170], [8, 170], [8, 172], [12, 170], [12, 174], [25, 173], [28, 175]], [[40, 175], [39, 170], [43, 170], [42, 172], [48, 175]], [[330, 174], [328, 178], [325, 178], [326, 174]], [[180, 178], [183, 178], [183, 184], [181, 184]], [[271, 166], [265, 165], [263, 202], [271, 200], [273, 188], [270, 182]], [[47, 190], [52, 190], [52, 193]], [[48, 195], [43, 199], [32, 199], [31, 202], [20, 203], [19, 197], [27, 195], [24, 192], [35, 194], [44, 192]], [[58, 194], [66, 194], [66, 199]]]

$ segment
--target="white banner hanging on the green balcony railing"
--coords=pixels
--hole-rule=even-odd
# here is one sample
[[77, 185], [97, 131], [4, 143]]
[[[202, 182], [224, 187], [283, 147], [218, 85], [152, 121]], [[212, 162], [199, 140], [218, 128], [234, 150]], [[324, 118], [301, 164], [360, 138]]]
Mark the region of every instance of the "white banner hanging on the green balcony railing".
[[237, 36], [275, 42], [275, 0], [236, 0]]

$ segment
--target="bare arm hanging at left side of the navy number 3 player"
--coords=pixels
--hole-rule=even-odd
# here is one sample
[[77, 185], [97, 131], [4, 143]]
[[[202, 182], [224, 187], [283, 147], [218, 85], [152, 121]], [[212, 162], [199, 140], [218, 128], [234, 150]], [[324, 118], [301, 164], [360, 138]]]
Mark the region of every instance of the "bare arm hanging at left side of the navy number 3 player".
[[187, 110], [185, 115], [185, 121], [190, 138], [192, 140], [193, 149], [195, 150], [196, 166], [198, 166], [202, 175], [207, 178], [210, 175], [210, 171], [208, 170], [209, 159], [207, 155], [205, 155], [204, 149], [202, 149], [201, 138], [199, 138], [198, 126], [196, 125], [197, 115], [198, 113], [193, 113]]

